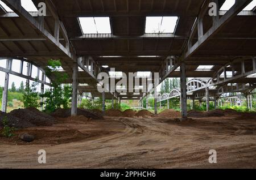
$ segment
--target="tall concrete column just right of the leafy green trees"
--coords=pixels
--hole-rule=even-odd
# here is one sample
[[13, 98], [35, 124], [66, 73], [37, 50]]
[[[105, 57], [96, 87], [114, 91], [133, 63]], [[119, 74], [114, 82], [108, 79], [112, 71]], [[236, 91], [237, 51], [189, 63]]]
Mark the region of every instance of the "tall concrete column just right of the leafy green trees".
[[73, 65], [73, 76], [72, 76], [72, 106], [71, 106], [71, 115], [77, 115], [77, 73], [78, 73], [78, 65], [74, 63]]

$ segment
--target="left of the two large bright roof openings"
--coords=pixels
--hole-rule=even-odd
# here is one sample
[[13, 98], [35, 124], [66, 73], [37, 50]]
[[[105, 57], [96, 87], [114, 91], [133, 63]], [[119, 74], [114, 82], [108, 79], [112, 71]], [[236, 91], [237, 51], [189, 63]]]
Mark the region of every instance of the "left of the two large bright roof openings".
[[82, 33], [84, 34], [110, 34], [109, 17], [79, 18]]

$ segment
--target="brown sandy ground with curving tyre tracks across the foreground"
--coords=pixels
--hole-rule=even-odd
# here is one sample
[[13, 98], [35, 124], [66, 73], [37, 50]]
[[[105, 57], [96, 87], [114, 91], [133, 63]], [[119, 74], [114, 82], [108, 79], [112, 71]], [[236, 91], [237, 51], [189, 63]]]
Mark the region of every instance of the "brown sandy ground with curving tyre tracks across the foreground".
[[[0, 168], [256, 168], [256, 121], [232, 116], [177, 122], [164, 117], [63, 122], [0, 138]], [[38, 163], [45, 149], [47, 163]], [[209, 164], [210, 149], [217, 164]]]

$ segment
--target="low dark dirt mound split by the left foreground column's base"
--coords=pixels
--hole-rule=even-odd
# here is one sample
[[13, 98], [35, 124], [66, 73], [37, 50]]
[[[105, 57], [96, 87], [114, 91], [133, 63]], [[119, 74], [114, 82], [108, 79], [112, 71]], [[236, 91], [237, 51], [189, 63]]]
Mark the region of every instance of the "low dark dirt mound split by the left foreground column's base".
[[[68, 118], [71, 116], [71, 109], [57, 109], [51, 113], [53, 117]], [[104, 119], [101, 114], [90, 112], [89, 110], [79, 108], [77, 109], [77, 115], [83, 115], [86, 118], [92, 119]]]

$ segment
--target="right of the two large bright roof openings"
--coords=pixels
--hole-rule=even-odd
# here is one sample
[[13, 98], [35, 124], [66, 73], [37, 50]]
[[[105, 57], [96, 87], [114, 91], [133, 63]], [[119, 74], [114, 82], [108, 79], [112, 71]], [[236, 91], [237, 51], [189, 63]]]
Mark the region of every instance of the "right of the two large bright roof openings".
[[147, 16], [145, 33], [174, 33], [177, 16]]

